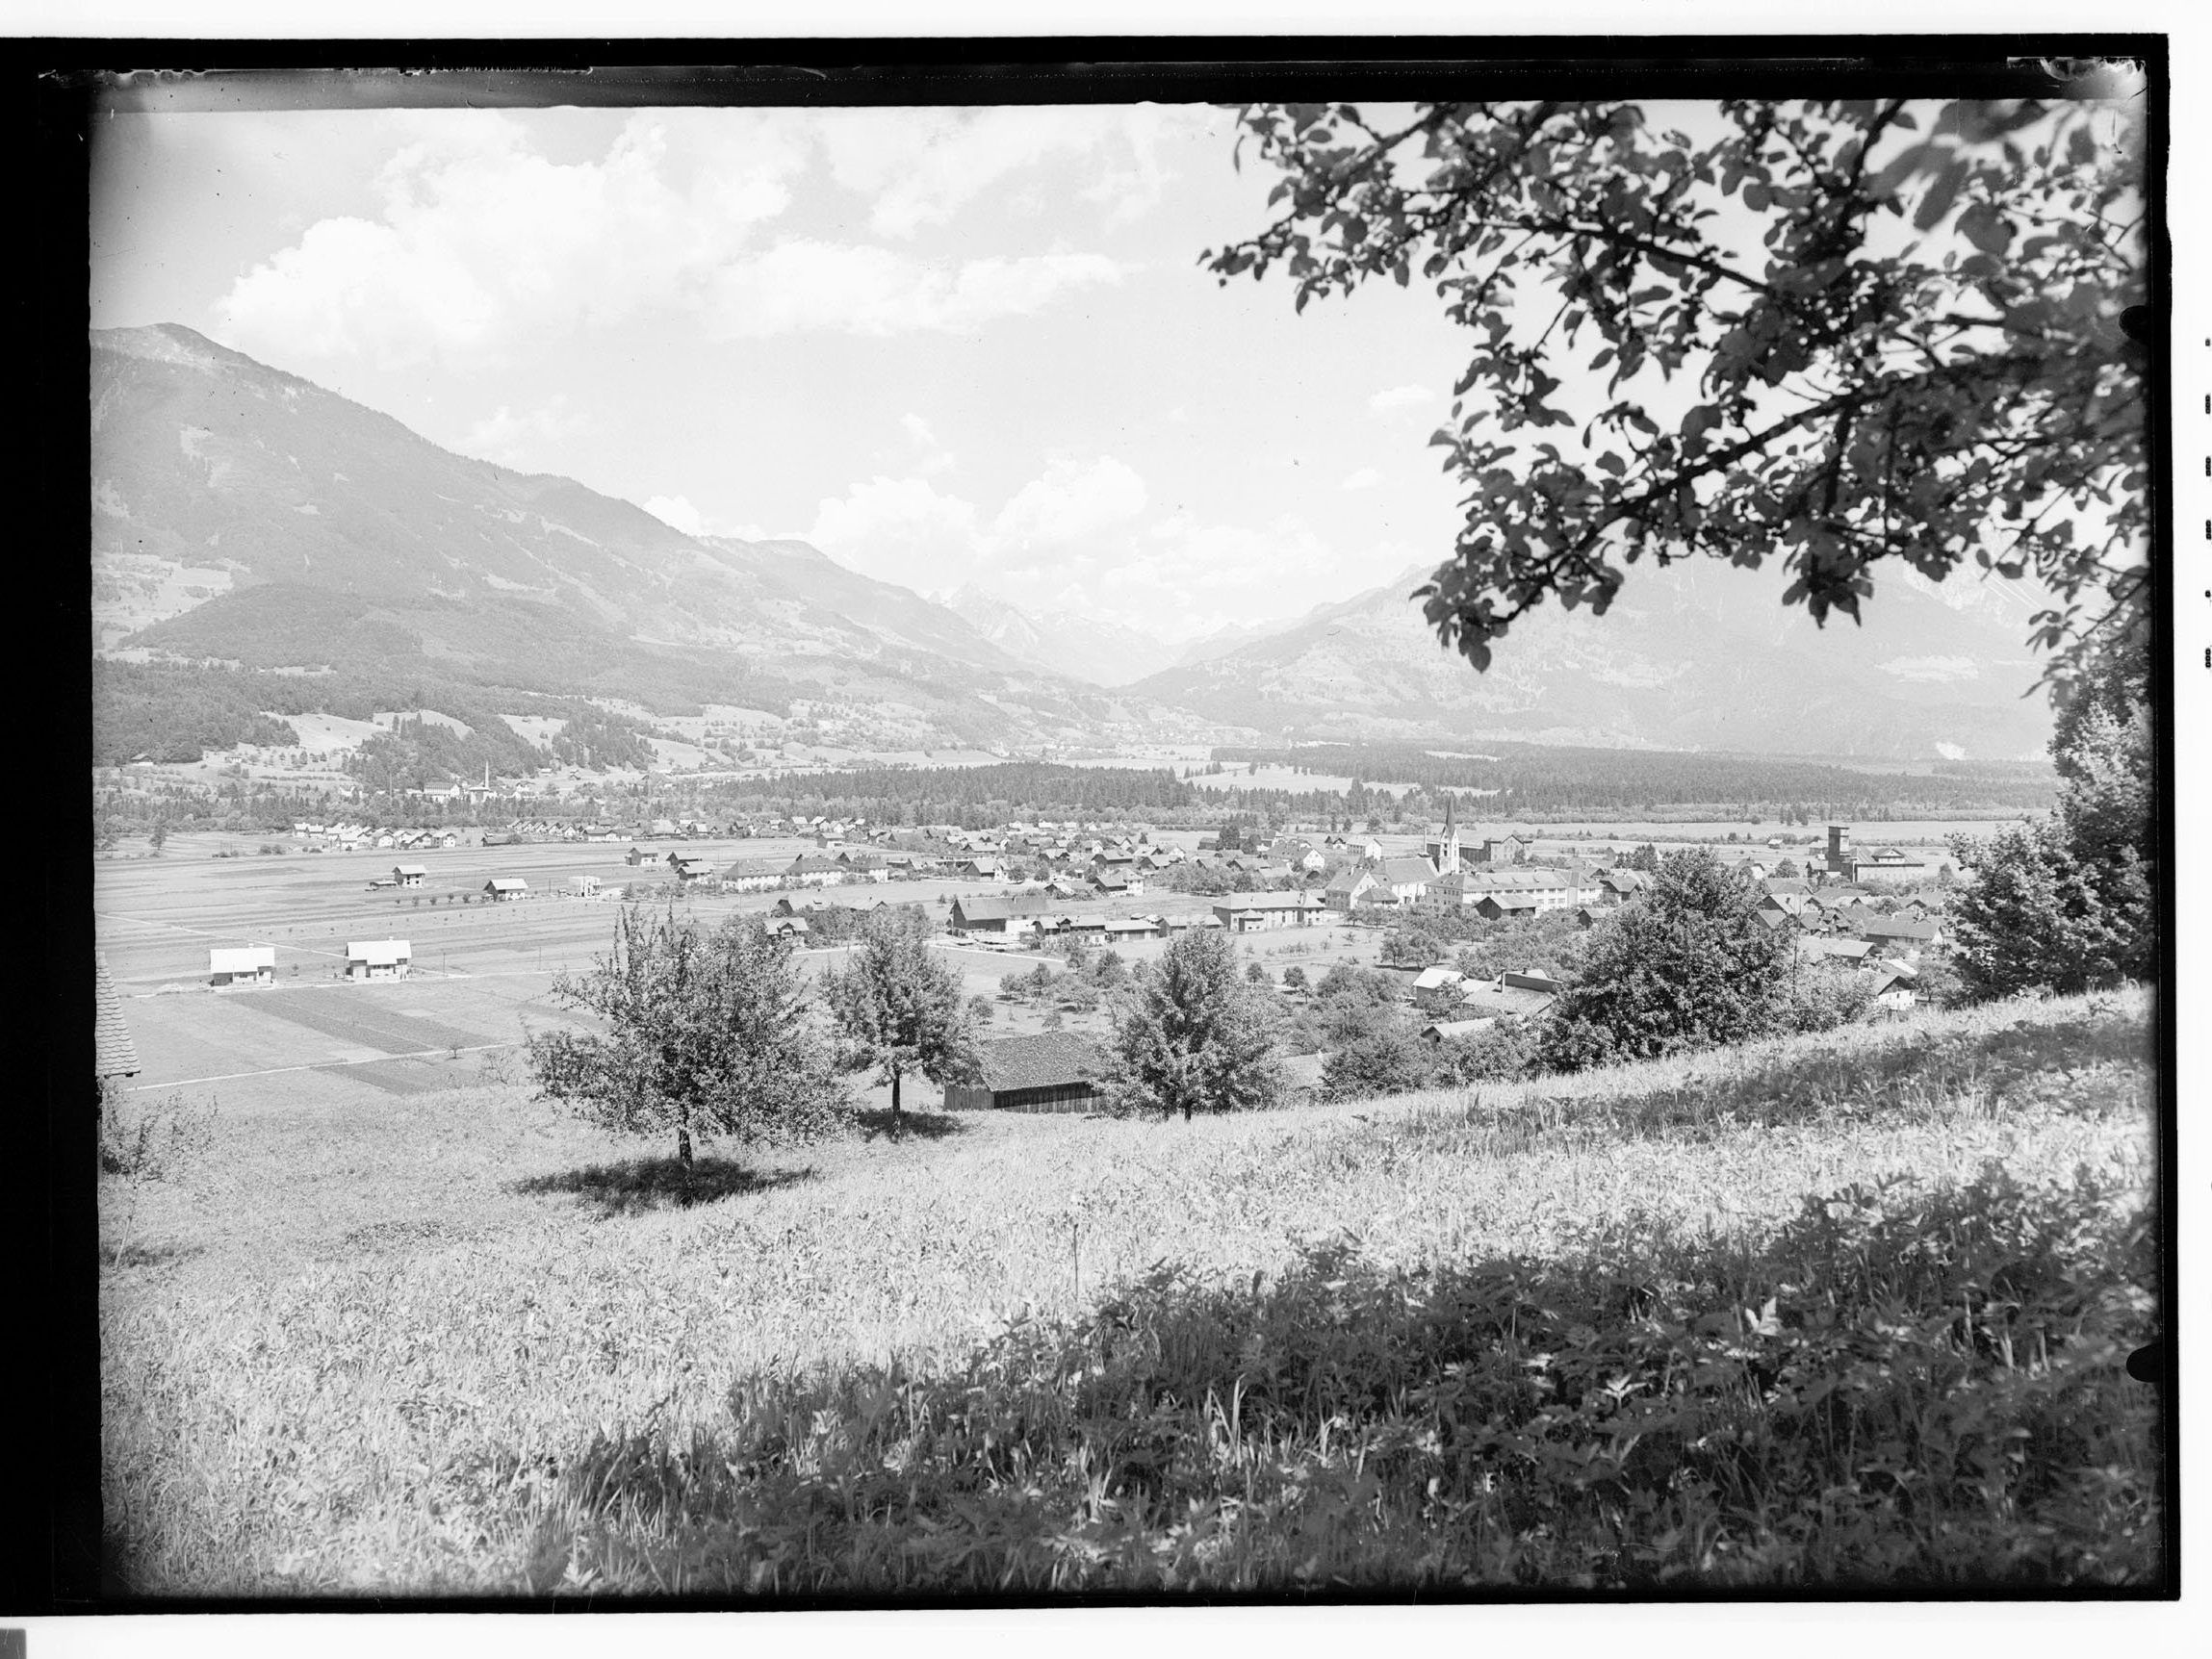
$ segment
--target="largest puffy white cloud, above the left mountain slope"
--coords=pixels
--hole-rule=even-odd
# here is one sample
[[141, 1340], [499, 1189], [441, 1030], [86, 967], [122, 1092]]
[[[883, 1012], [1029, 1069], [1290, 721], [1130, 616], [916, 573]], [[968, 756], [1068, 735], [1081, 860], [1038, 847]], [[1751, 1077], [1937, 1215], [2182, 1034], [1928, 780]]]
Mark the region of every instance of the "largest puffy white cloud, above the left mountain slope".
[[396, 365], [686, 301], [783, 212], [807, 157], [761, 113], [639, 111], [580, 164], [495, 113], [398, 126], [380, 217], [323, 219], [239, 276], [217, 305], [230, 338]]

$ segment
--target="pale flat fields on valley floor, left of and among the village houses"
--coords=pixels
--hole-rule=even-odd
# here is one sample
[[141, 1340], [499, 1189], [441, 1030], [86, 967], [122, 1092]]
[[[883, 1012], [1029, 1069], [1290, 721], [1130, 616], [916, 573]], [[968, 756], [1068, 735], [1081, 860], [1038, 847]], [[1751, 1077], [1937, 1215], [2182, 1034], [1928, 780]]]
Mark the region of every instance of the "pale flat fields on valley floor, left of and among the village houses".
[[[580, 973], [606, 951], [615, 905], [573, 898], [573, 876], [606, 887], [659, 878], [628, 869], [617, 845], [453, 847], [442, 852], [356, 852], [215, 858], [217, 838], [179, 836], [161, 858], [113, 858], [95, 865], [93, 907], [100, 945], [124, 1000], [144, 1071], [137, 1095], [186, 1088], [223, 1110], [369, 1104], [420, 1095], [500, 1068], [533, 1029], [564, 1020], [551, 1000], [557, 971]], [[796, 838], [653, 843], [728, 865], [734, 858], [792, 858]], [[422, 889], [367, 891], [394, 863], [429, 869]], [[491, 876], [522, 876], [531, 898], [480, 902]], [[956, 896], [1004, 891], [998, 883], [911, 880], [874, 887], [787, 894], [805, 902], [834, 898], [872, 905], [918, 900], [933, 920]], [[460, 902], [462, 896], [478, 902]], [[765, 914], [785, 894], [699, 894], [686, 902], [701, 920]], [[436, 900], [436, 902], [431, 902]], [[940, 902], [942, 900], [942, 902]], [[1214, 900], [1144, 894], [1128, 900], [1075, 900], [1057, 909], [1088, 916], [1206, 914]], [[405, 938], [414, 947], [407, 980], [345, 980], [347, 940]], [[208, 949], [274, 945], [274, 987], [208, 987]], [[1245, 949], [1270, 964], [1374, 962], [1380, 936], [1325, 922], [1252, 936]], [[998, 949], [947, 949], [969, 995], [995, 995], [1006, 973], [1033, 969], [1037, 956]], [[1130, 962], [1157, 956], [1164, 942], [1117, 947]], [[801, 951], [818, 969], [834, 951]], [[1055, 958], [1057, 960], [1057, 958]], [[1035, 1031], [1042, 1011], [1000, 1009], [989, 1035]], [[1104, 1020], [1073, 1020], [1104, 1029]], [[874, 1104], [889, 1088], [863, 1088]], [[880, 1099], [878, 1099], [880, 1095]], [[911, 1099], [911, 1091], [907, 1093]], [[925, 1086], [925, 1097], [927, 1086]]]

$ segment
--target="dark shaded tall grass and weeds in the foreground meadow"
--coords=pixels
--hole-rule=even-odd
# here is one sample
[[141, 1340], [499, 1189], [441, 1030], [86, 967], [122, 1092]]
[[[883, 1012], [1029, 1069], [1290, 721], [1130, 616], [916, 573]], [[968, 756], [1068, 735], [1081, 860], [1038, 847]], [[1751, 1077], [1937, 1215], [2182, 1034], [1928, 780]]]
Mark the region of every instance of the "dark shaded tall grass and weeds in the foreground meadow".
[[1555, 1259], [1161, 1270], [951, 1371], [748, 1380], [721, 1431], [595, 1438], [535, 1582], [2148, 1584], [2152, 1250], [2108, 1199], [1997, 1170], [1756, 1243], [1628, 1217]]

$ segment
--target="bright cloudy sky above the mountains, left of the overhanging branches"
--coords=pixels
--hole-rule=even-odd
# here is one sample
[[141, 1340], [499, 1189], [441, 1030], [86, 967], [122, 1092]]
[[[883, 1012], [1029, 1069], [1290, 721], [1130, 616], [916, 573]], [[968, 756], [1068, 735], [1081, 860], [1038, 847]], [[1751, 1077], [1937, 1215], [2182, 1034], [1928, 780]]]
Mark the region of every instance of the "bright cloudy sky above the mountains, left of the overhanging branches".
[[1203, 106], [111, 115], [93, 327], [184, 323], [692, 533], [1164, 641], [1449, 557], [1433, 292], [1310, 305]]

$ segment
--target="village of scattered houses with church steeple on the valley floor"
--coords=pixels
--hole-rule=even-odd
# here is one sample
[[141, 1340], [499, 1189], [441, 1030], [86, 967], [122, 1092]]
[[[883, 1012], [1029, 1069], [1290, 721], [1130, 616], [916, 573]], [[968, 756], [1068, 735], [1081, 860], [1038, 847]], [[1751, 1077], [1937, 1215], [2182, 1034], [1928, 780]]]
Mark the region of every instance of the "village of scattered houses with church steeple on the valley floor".
[[[405, 938], [349, 925], [343, 951], [341, 940], [323, 938], [283, 949], [270, 938], [210, 945], [208, 987], [296, 987], [303, 958], [310, 982], [425, 971], [482, 980], [500, 967], [513, 971], [524, 956], [533, 975], [551, 978], [604, 949], [611, 918], [597, 907], [615, 902], [752, 914], [803, 964], [821, 969], [843, 960], [869, 914], [907, 907], [991, 1022], [980, 1044], [982, 1086], [949, 1091], [945, 1106], [1018, 1110], [1082, 1110], [1097, 1099], [1110, 1022], [1104, 984], [1079, 969], [1141, 964], [1190, 929], [1237, 936], [1254, 984], [1265, 984], [1292, 1024], [1329, 967], [1385, 975], [1429, 1044], [1467, 1044], [1500, 1022], [1542, 1020], [1564, 980], [1540, 960], [1537, 940], [1557, 938], [1562, 922], [1590, 929], [1635, 905], [1661, 852], [1542, 836], [1531, 825], [1462, 825], [1451, 799], [1442, 823], [1420, 836], [1301, 825], [1267, 834], [1241, 821], [1212, 832], [1037, 818], [964, 830], [765, 814], [644, 825], [522, 818], [467, 834], [296, 821], [292, 834], [301, 841], [283, 849], [292, 869], [301, 854], [345, 856], [347, 865], [398, 854], [358, 885], [343, 883], [361, 896], [354, 902], [327, 878], [316, 883], [347, 922], [376, 916], [378, 905], [429, 914]], [[1944, 949], [1949, 858], [1858, 847], [1851, 825], [1840, 823], [1827, 825], [1825, 841], [1772, 834], [1714, 852], [1754, 885], [1761, 920], [1790, 933], [1796, 962], [1849, 969], [1871, 1015], [1913, 1006], [1916, 982]], [[595, 867], [573, 869], [577, 863]], [[484, 922], [498, 931], [487, 933]], [[524, 956], [469, 956], [504, 933], [529, 940]], [[1464, 951], [1455, 960], [1453, 947], [1464, 942], [1484, 945], [1491, 967], [1471, 971]], [[164, 989], [181, 987], [166, 980]], [[471, 1035], [478, 1044], [469, 1048], [493, 1048], [502, 1033], [487, 1022]], [[405, 1037], [372, 1053], [372, 1073], [389, 1073], [392, 1055], [434, 1060]], [[1321, 1084], [1323, 1060], [1310, 1044], [1287, 1044], [1285, 1068], [1305, 1091]]]

